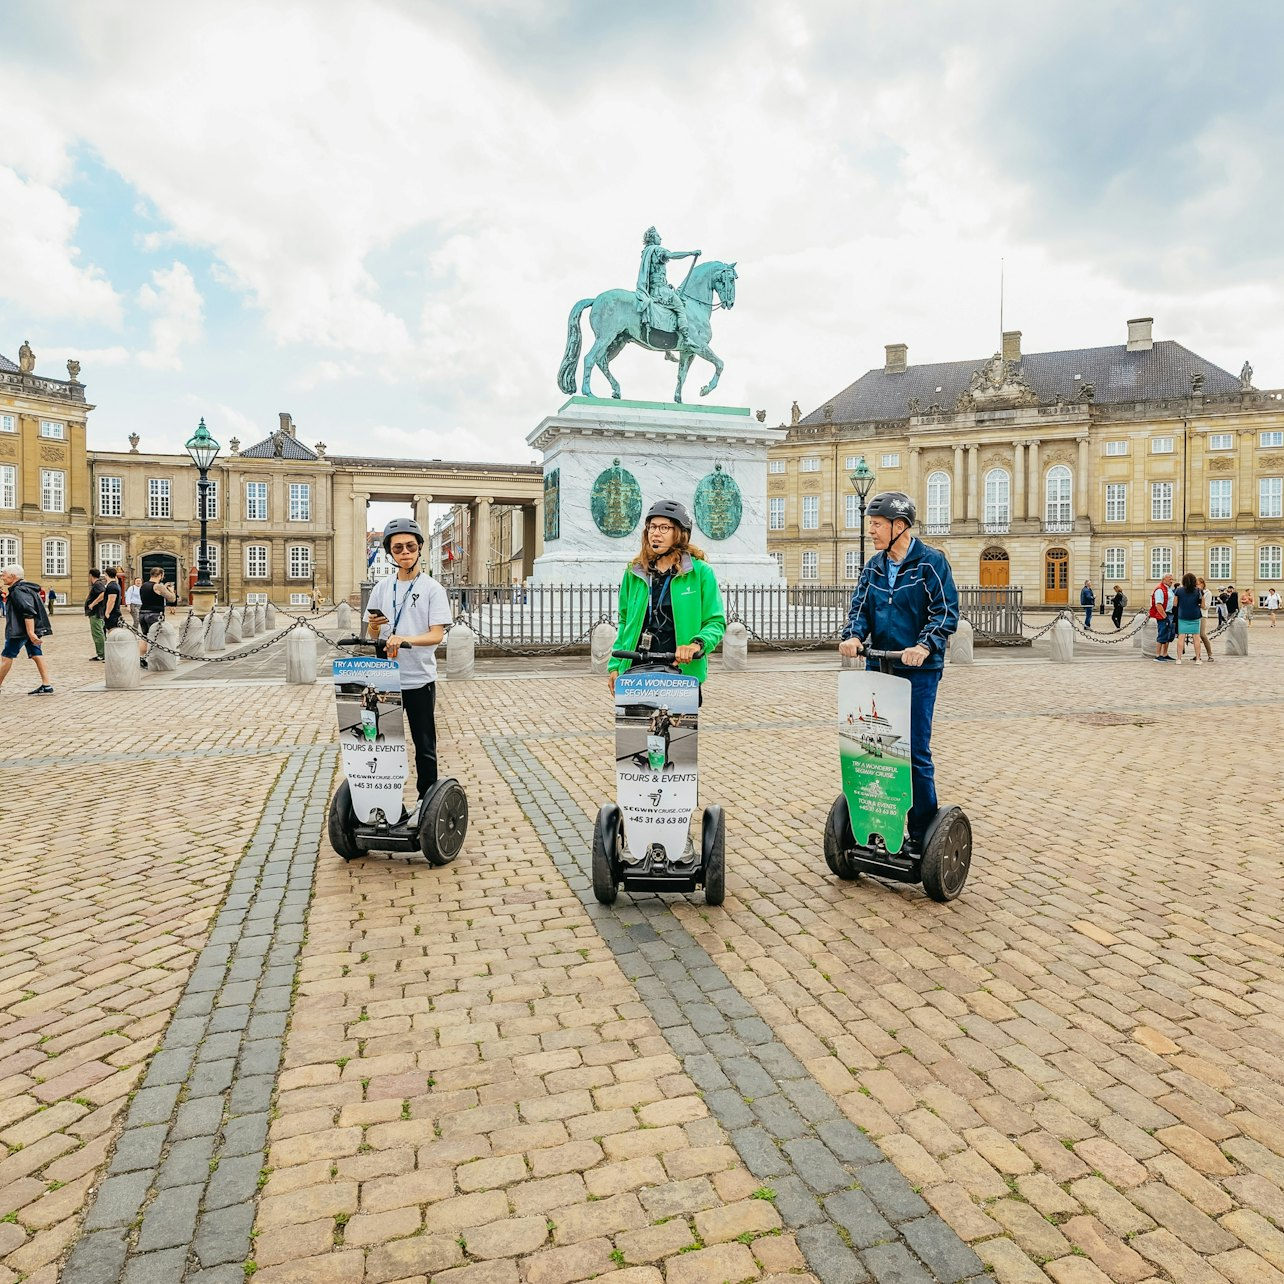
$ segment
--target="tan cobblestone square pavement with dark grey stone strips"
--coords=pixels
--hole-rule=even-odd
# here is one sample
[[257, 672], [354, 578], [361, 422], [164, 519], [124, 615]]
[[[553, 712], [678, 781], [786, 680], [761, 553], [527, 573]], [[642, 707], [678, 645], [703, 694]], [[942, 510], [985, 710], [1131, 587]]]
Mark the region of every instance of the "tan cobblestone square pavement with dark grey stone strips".
[[1284, 632], [949, 672], [946, 907], [824, 867], [832, 672], [716, 674], [727, 904], [606, 910], [602, 679], [448, 684], [464, 853], [344, 865], [325, 687], [91, 691], [55, 624], [0, 698], [0, 1284], [1284, 1281]]

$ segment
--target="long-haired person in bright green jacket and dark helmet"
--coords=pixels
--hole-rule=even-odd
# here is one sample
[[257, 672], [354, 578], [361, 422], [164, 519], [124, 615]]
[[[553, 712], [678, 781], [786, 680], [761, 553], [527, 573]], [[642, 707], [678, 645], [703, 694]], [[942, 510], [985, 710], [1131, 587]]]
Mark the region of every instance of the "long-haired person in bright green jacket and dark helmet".
[[[727, 612], [713, 568], [691, 543], [691, 515], [675, 499], [651, 505], [642, 528], [642, 550], [620, 583], [616, 651], [672, 651], [678, 668], [701, 682], [709, 652], [722, 641]], [[629, 668], [614, 656], [611, 690]]]

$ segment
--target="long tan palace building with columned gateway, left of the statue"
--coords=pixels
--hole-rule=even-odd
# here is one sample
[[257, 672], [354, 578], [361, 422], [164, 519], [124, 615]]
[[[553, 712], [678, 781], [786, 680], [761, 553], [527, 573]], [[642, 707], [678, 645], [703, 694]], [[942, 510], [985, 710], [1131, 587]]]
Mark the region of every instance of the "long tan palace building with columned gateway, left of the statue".
[[[67, 371], [65, 380], [37, 376], [26, 343], [17, 363], [0, 356], [0, 565], [21, 564], [71, 602], [82, 601], [91, 566], [117, 565], [128, 578], [159, 566], [184, 601], [200, 542], [195, 466], [186, 455], [140, 451], [137, 434], [128, 451], [90, 451], [94, 407], [80, 363]], [[457, 506], [482, 583], [529, 574], [542, 551], [538, 466], [330, 456], [324, 442], [306, 446], [282, 413], [263, 440], [225, 443], [209, 480], [220, 602], [356, 600], [369, 574], [370, 502], [410, 505], [425, 535], [429, 505]]]

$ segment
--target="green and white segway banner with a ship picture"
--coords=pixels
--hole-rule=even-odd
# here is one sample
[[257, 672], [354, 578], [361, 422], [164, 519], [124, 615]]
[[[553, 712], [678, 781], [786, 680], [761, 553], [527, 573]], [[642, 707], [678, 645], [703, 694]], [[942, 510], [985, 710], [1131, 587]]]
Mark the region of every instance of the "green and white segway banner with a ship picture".
[[887, 850], [905, 842], [913, 801], [909, 774], [909, 683], [890, 673], [838, 674], [838, 754], [851, 833], [860, 846], [878, 835]]

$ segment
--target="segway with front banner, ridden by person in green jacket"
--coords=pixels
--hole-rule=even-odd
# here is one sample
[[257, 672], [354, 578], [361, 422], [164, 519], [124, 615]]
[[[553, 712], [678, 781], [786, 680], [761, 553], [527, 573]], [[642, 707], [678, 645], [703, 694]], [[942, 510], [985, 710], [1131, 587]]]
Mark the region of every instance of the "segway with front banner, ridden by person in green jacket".
[[705, 904], [727, 894], [727, 832], [720, 806], [706, 806], [700, 850], [691, 838], [697, 805], [700, 681], [681, 673], [672, 651], [612, 651], [632, 660], [615, 679], [615, 802], [593, 826], [593, 895], [692, 892]]

